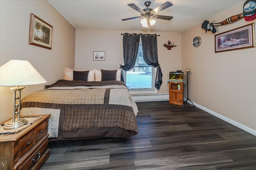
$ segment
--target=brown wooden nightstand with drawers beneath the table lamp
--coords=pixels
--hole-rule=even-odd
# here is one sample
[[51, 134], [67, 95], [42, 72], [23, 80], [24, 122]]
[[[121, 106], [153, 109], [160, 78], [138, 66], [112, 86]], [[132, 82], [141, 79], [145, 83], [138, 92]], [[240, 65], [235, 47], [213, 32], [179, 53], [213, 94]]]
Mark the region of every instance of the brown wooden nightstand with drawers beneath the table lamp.
[[0, 135], [1, 170], [39, 169], [42, 163], [49, 158], [47, 131], [50, 115], [22, 117], [33, 116], [42, 116], [42, 118], [16, 134]]

